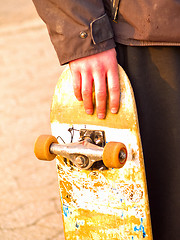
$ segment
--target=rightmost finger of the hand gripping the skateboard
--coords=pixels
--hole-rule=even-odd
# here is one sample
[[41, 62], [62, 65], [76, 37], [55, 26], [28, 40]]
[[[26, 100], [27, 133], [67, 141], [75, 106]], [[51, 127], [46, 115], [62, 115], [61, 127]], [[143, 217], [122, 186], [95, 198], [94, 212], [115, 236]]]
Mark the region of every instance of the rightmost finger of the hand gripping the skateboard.
[[118, 66], [111, 68], [107, 72], [108, 91], [109, 91], [109, 107], [112, 113], [117, 113], [119, 110], [120, 101], [120, 84]]

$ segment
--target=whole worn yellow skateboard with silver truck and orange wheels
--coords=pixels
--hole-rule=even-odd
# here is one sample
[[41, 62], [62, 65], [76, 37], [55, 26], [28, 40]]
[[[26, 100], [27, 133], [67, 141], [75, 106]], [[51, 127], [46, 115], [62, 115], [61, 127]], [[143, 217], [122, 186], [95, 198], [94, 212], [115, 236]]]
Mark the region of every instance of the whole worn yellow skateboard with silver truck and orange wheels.
[[148, 192], [133, 90], [119, 66], [120, 109], [105, 119], [76, 100], [69, 67], [55, 88], [53, 136], [35, 143], [39, 159], [56, 157], [66, 240], [152, 240]]

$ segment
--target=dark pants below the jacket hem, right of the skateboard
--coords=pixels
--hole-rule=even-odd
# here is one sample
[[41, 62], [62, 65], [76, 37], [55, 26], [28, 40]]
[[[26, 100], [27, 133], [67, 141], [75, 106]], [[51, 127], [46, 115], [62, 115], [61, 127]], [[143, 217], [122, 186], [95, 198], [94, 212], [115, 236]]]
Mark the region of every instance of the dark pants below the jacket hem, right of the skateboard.
[[135, 94], [154, 240], [180, 239], [180, 47], [117, 44]]

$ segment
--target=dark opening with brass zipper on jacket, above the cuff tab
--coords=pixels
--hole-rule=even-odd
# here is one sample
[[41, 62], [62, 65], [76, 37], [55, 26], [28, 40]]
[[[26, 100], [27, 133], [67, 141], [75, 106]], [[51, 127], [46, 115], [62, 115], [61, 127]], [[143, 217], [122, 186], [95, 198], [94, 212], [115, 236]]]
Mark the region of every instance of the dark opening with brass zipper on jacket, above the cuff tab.
[[118, 18], [120, 0], [103, 0], [106, 13], [113, 20]]

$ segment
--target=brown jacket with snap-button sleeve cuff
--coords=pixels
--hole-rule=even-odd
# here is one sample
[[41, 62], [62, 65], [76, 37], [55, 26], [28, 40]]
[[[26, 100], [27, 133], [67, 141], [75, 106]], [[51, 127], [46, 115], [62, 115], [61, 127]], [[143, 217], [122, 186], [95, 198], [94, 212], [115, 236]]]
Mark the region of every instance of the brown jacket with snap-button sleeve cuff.
[[126, 45], [180, 46], [180, 0], [33, 0], [65, 64]]

